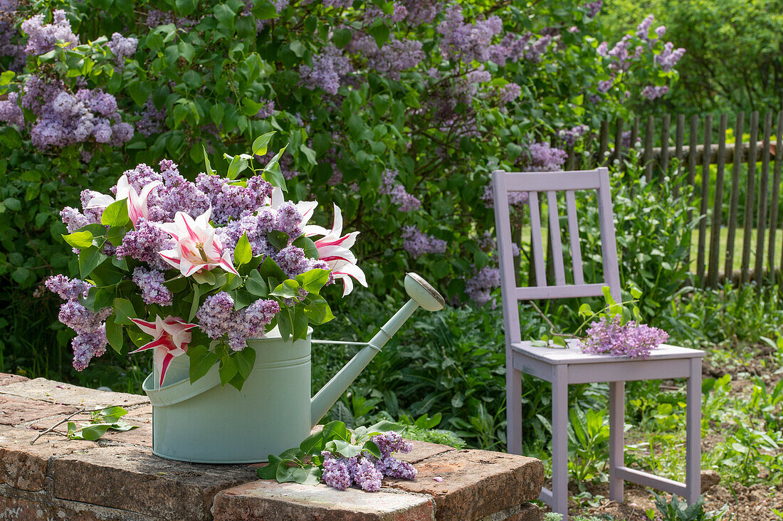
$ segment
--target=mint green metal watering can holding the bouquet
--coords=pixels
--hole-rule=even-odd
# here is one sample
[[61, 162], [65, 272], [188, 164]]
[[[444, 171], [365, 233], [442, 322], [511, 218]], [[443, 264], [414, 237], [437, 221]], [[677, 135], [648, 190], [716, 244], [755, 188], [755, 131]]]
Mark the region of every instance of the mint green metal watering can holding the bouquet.
[[[220, 385], [217, 366], [191, 384], [189, 357], [177, 356], [160, 388], [154, 373], [143, 383], [153, 406], [153, 453], [197, 463], [254, 463], [298, 446], [417, 308], [445, 306], [416, 273], [406, 275], [405, 290], [410, 300], [366, 344], [312, 340], [312, 329], [297, 342], [283, 341], [276, 329], [249, 340], [256, 359], [241, 391]], [[312, 343], [365, 347], [311, 398]]]

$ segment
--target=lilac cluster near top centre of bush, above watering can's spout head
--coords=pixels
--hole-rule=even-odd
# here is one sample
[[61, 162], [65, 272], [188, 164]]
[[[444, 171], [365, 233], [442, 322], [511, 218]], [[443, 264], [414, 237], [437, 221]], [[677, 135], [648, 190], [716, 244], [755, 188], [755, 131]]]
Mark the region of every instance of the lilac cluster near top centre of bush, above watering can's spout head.
[[388, 74], [393, 80], [399, 80], [402, 71], [408, 71], [424, 60], [423, 47], [424, 44], [419, 40], [391, 37], [382, 49], [378, 49], [375, 38], [369, 34], [355, 33], [348, 50], [365, 58], [370, 69]]

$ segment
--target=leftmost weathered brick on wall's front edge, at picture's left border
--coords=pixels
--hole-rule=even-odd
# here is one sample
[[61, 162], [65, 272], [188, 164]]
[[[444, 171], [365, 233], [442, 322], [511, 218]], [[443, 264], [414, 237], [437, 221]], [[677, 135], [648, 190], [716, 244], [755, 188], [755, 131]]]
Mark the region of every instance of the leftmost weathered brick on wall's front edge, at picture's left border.
[[52, 456], [98, 447], [92, 441], [67, 440], [54, 433], [41, 436], [31, 445], [30, 442], [38, 433], [23, 428], [8, 427], [0, 430], [0, 483], [20, 490], [43, 490], [46, 469]]

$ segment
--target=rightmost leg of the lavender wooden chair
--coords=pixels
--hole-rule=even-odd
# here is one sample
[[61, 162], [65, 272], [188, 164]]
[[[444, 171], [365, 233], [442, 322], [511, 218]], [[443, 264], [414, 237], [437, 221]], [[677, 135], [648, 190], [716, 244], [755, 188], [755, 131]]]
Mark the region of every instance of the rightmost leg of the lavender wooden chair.
[[702, 493], [702, 359], [691, 358], [691, 376], [687, 381], [687, 433], [685, 485], [688, 505], [698, 501]]

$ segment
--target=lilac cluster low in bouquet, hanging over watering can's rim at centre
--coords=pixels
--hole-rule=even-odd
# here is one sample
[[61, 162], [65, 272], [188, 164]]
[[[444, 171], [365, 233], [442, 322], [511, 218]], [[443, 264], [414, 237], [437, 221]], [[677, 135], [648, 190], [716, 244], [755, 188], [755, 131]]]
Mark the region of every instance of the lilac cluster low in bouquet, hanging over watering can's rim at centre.
[[234, 299], [226, 291], [207, 297], [196, 312], [201, 331], [209, 338], [227, 336], [229, 347], [241, 351], [247, 346], [247, 338], [264, 335], [266, 324], [280, 313], [280, 305], [274, 300], [257, 300], [239, 311], [234, 310]]

